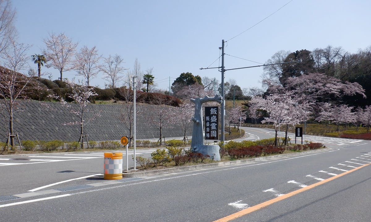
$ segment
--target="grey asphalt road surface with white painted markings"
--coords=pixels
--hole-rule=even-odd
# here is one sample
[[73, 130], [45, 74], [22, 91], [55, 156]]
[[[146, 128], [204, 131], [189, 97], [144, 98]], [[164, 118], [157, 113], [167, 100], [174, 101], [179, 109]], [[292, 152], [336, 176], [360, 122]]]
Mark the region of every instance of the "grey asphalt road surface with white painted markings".
[[[255, 128], [246, 133], [251, 140], [274, 135]], [[370, 221], [370, 142], [312, 139], [329, 149], [123, 181], [96, 175], [32, 192], [102, 173], [102, 157], [0, 165], [0, 196], [25, 193], [0, 200], [1, 220], [227, 221], [232, 215], [229, 221]], [[9, 187], [7, 180], [19, 182]]]

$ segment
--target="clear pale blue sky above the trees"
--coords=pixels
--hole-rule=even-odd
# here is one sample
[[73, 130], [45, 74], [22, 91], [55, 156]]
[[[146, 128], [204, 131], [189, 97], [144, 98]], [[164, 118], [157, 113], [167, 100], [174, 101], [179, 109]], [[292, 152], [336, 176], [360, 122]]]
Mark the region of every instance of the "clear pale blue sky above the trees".
[[[17, 41], [32, 45], [30, 56], [42, 54], [49, 33], [64, 33], [79, 43], [78, 50], [96, 46], [104, 57], [120, 55], [129, 70], [138, 59], [144, 73], [153, 68], [156, 88], [163, 90], [185, 72], [220, 83], [218, 69], [200, 68], [221, 65], [222, 40], [228, 54], [226, 69], [264, 64], [280, 50], [311, 51], [330, 45], [357, 53], [371, 46], [369, 0], [13, 0], [12, 4]], [[31, 59], [29, 65], [37, 71]], [[42, 67], [42, 72], [52, 73], [52, 80], [59, 77], [54, 68]], [[75, 74], [66, 71], [63, 77]], [[262, 67], [230, 70], [225, 81], [236, 80], [243, 89], [261, 87], [262, 74]], [[102, 77], [100, 73], [91, 79], [91, 85], [104, 88], [108, 82]]]

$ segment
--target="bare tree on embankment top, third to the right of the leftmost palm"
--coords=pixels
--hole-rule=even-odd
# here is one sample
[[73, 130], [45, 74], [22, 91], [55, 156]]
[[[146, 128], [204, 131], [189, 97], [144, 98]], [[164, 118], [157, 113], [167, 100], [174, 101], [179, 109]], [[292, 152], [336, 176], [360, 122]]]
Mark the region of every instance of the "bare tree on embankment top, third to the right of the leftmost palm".
[[100, 70], [104, 72], [103, 78], [110, 83], [111, 88], [115, 88], [116, 84], [124, 78], [121, 74], [127, 69], [122, 67], [122, 63], [124, 63], [124, 59], [118, 54], [104, 58], [104, 64]]

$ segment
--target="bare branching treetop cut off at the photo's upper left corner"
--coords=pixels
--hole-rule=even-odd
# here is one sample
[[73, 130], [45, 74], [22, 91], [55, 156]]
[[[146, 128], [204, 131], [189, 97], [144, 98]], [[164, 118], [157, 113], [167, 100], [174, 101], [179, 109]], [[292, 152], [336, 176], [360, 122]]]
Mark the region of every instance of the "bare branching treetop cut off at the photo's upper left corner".
[[12, 44], [10, 40], [17, 35], [14, 27], [15, 14], [10, 0], [0, 0], [0, 53]]

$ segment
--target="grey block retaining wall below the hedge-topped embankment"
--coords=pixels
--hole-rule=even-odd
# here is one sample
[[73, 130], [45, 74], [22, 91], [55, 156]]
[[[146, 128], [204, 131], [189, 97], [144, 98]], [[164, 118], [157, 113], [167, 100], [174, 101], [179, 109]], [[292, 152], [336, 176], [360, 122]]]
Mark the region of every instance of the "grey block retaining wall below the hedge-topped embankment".
[[[68, 108], [59, 102], [20, 101], [19, 110], [14, 113], [14, 133], [18, 133], [21, 140], [63, 140], [78, 141], [80, 135], [79, 125], [68, 125], [69, 122], [78, 121], [79, 117], [70, 110], [77, 108], [78, 104], [69, 104]], [[125, 104], [89, 104], [90, 112], [85, 112], [85, 120], [94, 113], [101, 116], [94, 118], [84, 126], [84, 135], [89, 140], [111, 141], [119, 140], [122, 136], [128, 136], [129, 130], [120, 120], [120, 115], [125, 112]], [[171, 109], [173, 107], [165, 107]], [[148, 122], [148, 118], [156, 119], [155, 106], [137, 104], [136, 137], [137, 139], [159, 138], [160, 131]], [[8, 117], [5, 110], [0, 110], [3, 117], [0, 125], [0, 140], [6, 142], [8, 134]], [[183, 137], [184, 132], [175, 122], [165, 124], [162, 127], [162, 135], [165, 138]], [[189, 127], [187, 135], [192, 135], [192, 127]]]

